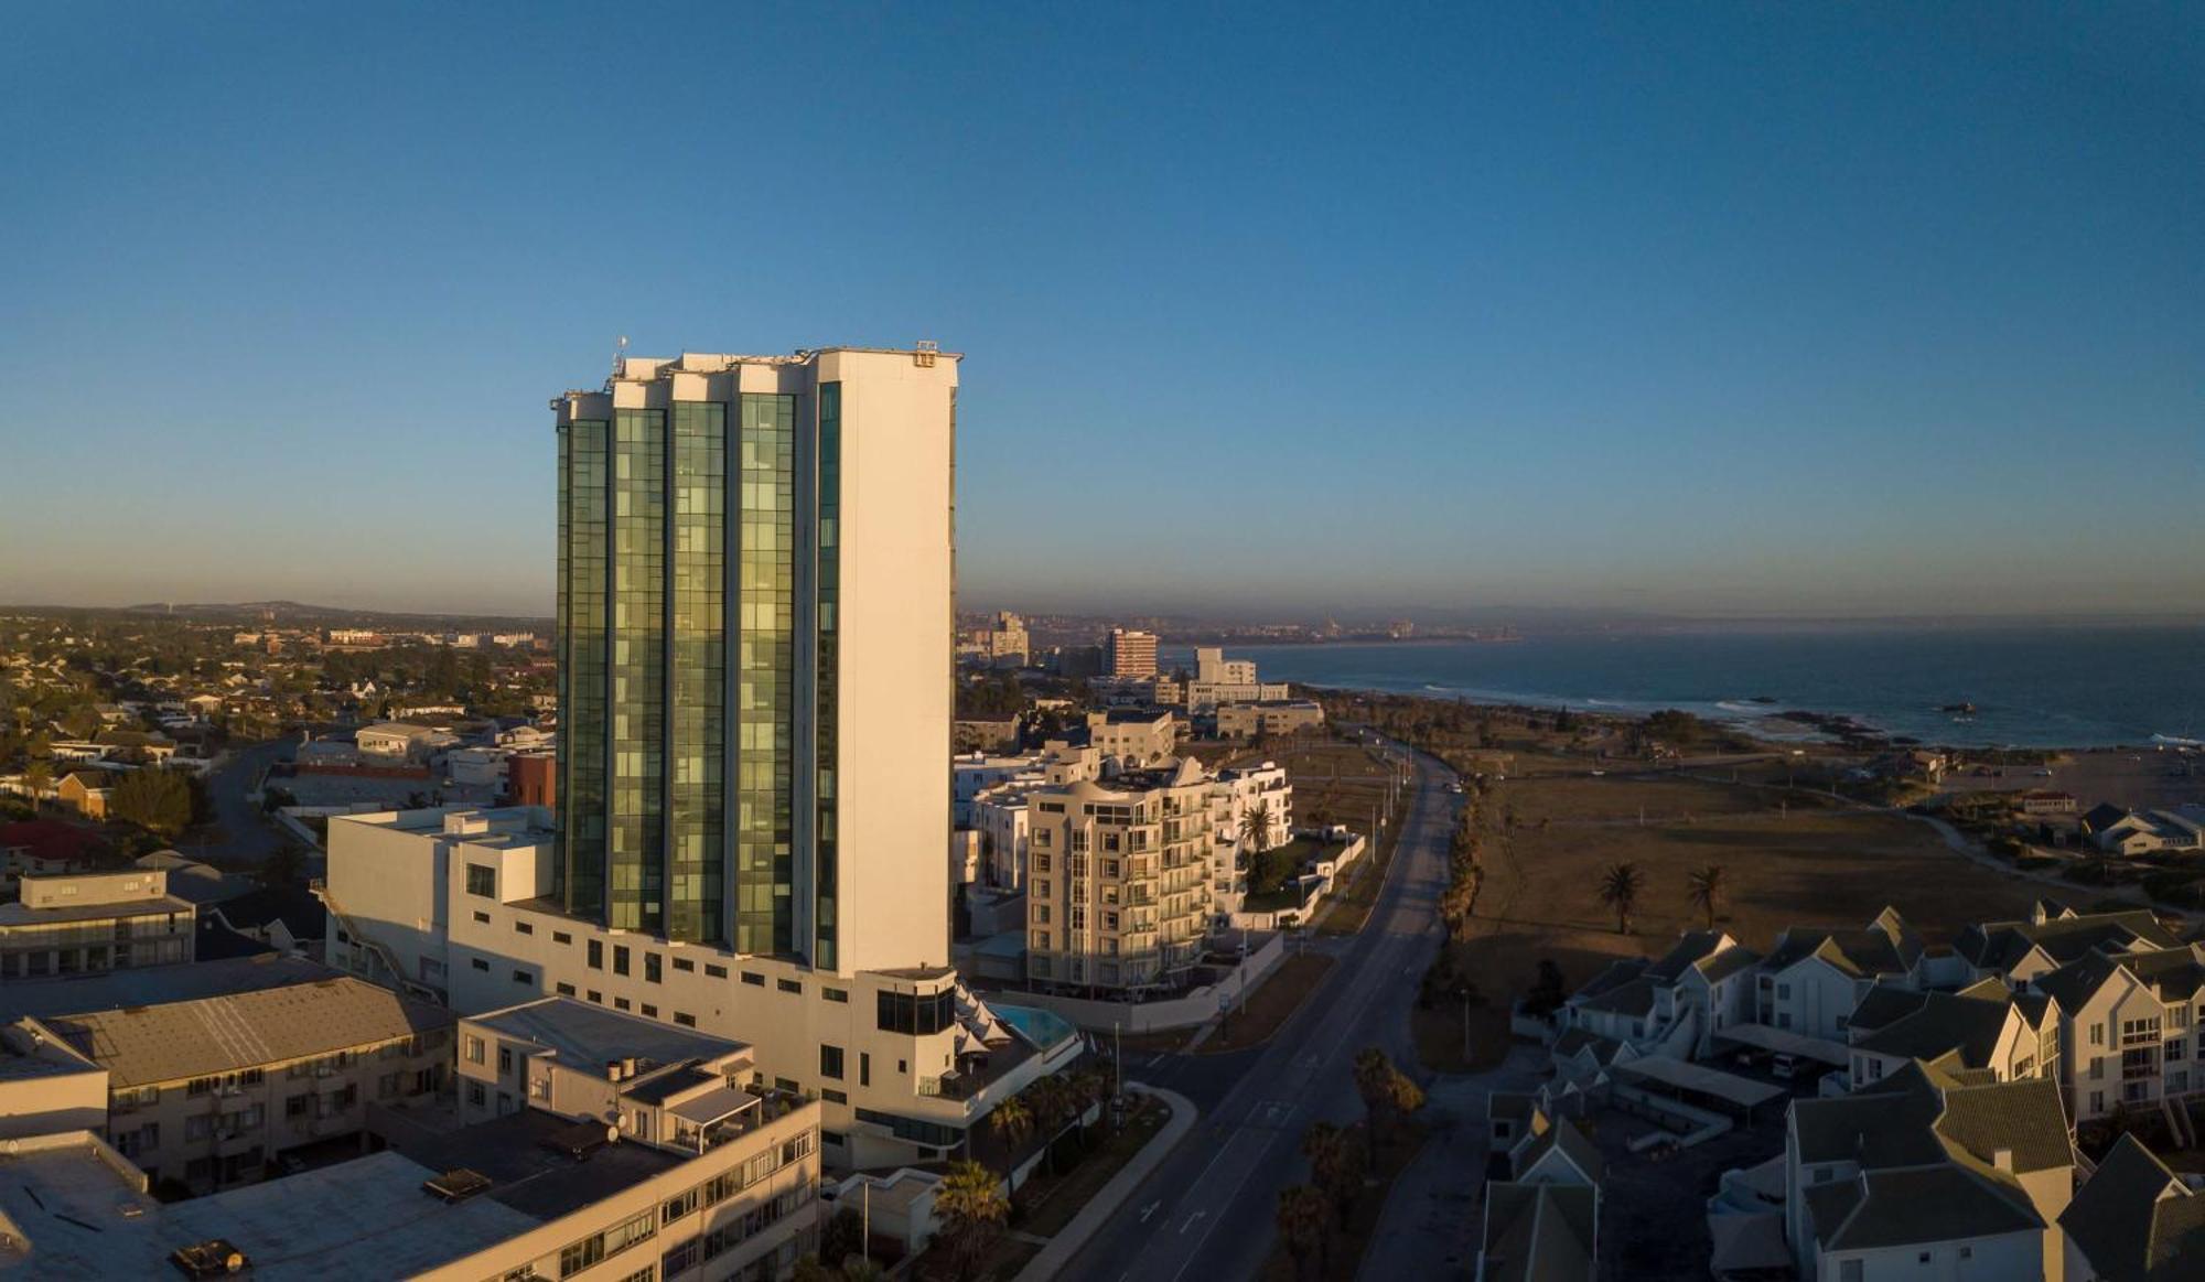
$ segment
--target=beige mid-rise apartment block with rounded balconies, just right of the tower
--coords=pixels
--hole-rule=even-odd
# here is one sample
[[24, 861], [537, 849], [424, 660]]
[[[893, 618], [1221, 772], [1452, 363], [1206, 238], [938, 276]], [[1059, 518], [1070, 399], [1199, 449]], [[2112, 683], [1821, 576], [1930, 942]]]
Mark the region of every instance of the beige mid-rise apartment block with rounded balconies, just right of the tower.
[[1211, 778], [1193, 758], [1028, 793], [1028, 978], [1166, 987], [1211, 916]]

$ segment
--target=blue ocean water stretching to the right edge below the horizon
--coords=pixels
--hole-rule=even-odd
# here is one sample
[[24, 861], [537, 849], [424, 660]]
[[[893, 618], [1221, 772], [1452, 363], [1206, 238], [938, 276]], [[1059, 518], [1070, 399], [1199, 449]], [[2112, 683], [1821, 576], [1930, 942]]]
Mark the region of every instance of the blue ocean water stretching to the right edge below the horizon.
[[[2205, 628], [1724, 628], [1230, 654], [1259, 661], [1268, 681], [1625, 714], [1680, 707], [1749, 727], [1804, 709], [1938, 745], [2205, 740]], [[1940, 711], [1949, 703], [1973, 703], [1976, 716]]]

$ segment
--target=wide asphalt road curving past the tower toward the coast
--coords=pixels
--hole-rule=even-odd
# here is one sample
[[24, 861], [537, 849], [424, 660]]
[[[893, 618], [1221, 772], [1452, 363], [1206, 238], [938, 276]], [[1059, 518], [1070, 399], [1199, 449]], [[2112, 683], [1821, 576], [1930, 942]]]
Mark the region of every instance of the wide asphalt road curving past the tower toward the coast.
[[[1250, 1060], [1166, 1057], [1127, 1077], [1169, 1086], [1202, 1121], [1094, 1236], [1063, 1278], [1083, 1282], [1230, 1282], [1270, 1253], [1279, 1189], [1308, 1178], [1301, 1132], [1360, 1117], [1354, 1057], [1385, 1046], [1409, 1068], [1409, 1002], [1438, 949], [1433, 903], [1446, 879], [1453, 775], [1411, 758], [1416, 800], [1385, 892], [1323, 987]], [[1211, 1064], [1204, 1064], [1211, 1060]]]

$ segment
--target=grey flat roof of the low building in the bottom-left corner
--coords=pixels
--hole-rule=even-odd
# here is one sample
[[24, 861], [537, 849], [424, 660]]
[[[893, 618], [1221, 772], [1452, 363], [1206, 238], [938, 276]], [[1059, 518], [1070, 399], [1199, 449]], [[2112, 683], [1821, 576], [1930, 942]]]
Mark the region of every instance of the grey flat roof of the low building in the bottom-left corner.
[[[679, 1154], [609, 1143], [582, 1161], [545, 1148], [571, 1128], [516, 1112], [439, 1137], [225, 1194], [161, 1205], [104, 1161], [88, 1134], [0, 1154], [0, 1216], [29, 1249], [0, 1247], [26, 1278], [170, 1278], [176, 1247], [223, 1238], [254, 1278], [406, 1278], [439, 1269], [681, 1165]], [[492, 1187], [445, 1205], [421, 1185], [467, 1167]]]

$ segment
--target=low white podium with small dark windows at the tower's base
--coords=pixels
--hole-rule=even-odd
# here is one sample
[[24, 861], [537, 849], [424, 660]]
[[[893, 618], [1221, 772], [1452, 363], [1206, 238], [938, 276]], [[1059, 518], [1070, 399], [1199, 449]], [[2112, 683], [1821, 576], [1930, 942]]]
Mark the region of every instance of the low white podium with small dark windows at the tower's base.
[[[838, 1167], [953, 1154], [999, 1099], [1083, 1049], [1058, 1020], [975, 1000], [948, 967], [946, 925], [928, 965], [833, 974], [567, 914], [551, 899], [549, 819], [527, 806], [333, 817], [329, 963], [461, 1015], [564, 996], [739, 1040], [765, 1079], [825, 1101]], [[928, 903], [946, 905], [944, 859], [928, 870]]]

